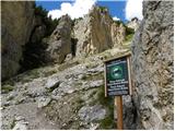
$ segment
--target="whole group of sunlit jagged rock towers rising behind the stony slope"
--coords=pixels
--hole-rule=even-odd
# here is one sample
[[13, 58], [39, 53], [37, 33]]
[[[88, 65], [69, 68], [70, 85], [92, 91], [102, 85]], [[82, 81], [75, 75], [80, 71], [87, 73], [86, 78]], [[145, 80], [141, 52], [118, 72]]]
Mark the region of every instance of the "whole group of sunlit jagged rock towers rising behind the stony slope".
[[121, 48], [126, 40], [126, 26], [114, 22], [106, 8], [93, 7], [84, 17], [71, 21], [60, 19], [48, 40], [50, 62], [62, 63], [73, 57], [88, 57], [106, 49]]

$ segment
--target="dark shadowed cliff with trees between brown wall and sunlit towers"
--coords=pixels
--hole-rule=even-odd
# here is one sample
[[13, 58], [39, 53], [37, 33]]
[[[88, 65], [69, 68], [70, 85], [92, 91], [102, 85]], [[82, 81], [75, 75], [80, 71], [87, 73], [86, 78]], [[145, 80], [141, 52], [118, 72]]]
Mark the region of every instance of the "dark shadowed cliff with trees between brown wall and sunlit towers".
[[49, 62], [46, 51], [48, 47], [47, 37], [50, 36], [57, 24], [58, 20], [51, 20], [51, 17], [47, 16], [45, 9], [35, 5], [33, 26], [31, 26], [32, 32], [28, 41], [23, 48], [20, 72], [43, 67]]

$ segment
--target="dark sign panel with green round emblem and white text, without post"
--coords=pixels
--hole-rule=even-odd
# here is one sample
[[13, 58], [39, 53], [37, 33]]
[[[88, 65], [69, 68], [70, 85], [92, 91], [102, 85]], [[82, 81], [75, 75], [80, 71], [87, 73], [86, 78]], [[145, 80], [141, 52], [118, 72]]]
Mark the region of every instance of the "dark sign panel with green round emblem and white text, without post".
[[108, 96], [129, 94], [128, 57], [106, 61], [106, 92]]

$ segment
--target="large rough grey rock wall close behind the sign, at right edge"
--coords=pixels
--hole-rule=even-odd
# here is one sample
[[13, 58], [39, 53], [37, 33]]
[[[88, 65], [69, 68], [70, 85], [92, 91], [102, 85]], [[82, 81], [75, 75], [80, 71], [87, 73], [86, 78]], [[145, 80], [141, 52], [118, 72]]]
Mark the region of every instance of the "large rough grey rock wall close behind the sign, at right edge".
[[143, 2], [132, 43], [137, 129], [173, 130], [173, 1]]

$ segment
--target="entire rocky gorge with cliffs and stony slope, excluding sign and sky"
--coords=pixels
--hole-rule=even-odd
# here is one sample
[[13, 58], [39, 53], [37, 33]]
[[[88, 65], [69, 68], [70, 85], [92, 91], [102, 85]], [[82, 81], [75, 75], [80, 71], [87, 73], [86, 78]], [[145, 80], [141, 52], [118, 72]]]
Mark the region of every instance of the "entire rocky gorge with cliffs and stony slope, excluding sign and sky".
[[143, 20], [124, 23], [100, 5], [52, 20], [35, 1], [2, 1], [1, 129], [116, 129], [104, 61], [131, 53], [124, 129], [173, 130], [174, 3], [142, 4]]

